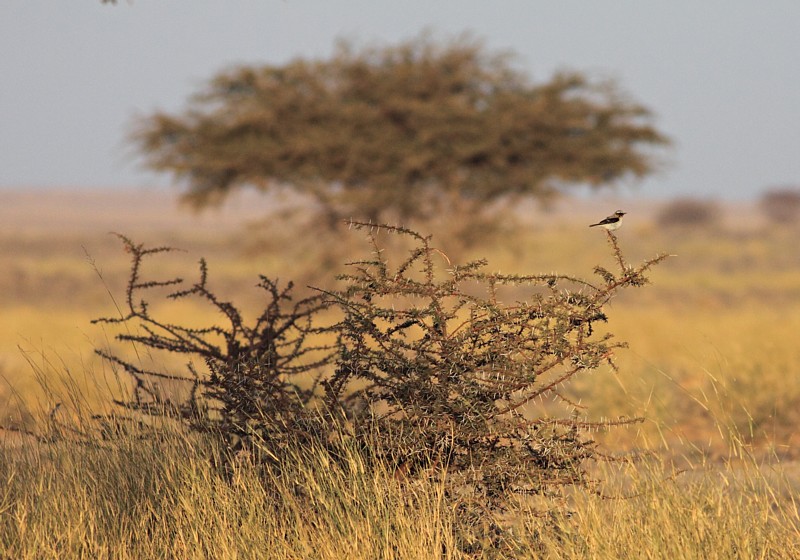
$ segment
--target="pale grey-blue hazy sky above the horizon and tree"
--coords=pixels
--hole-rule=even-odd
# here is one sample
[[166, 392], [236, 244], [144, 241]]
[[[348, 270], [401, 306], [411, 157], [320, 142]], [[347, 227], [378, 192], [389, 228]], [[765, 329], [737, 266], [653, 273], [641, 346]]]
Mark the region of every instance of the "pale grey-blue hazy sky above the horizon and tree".
[[656, 114], [669, 166], [624, 194], [747, 199], [800, 185], [800, 1], [2, 0], [0, 188], [170, 184], [125, 141], [214, 73], [334, 41], [472, 31], [534, 81], [614, 78]]

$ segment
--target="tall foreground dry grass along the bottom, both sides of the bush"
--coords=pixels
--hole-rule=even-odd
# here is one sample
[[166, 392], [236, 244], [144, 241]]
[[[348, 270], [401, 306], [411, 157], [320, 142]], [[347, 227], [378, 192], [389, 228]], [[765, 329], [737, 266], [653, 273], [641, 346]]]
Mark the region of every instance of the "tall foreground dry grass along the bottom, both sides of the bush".
[[[337, 465], [303, 448], [280, 474], [265, 474], [247, 457], [223, 472], [209, 461], [218, 450], [208, 442], [165, 426], [159, 433], [4, 450], [6, 557], [466, 557], [442, 481], [398, 481], [347, 447]], [[598, 474], [610, 481], [607, 496], [578, 492], [568, 514], [523, 508], [512, 521], [515, 539], [495, 557], [788, 560], [800, 553], [797, 488], [774, 469], [743, 461], [676, 475], [652, 461]]]

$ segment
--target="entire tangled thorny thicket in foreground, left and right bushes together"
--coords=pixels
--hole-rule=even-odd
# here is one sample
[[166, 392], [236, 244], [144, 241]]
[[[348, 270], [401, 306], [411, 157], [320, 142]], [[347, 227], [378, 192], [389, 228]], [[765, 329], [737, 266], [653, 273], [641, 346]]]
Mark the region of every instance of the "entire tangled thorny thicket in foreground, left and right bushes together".
[[[121, 237], [132, 255], [127, 313], [98, 321], [125, 325], [119, 340], [201, 358], [207, 371], [189, 365], [165, 374], [100, 351], [135, 380], [132, 399], [119, 404], [216, 433], [271, 468], [280, 468], [288, 441], [328, 446], [335, 461], [346, 440], [403, 479], [447, 473], [445, 498], [462, 513], [464, 550], [499, 530], [487, 529], [485, 514], [512, 496], [591, 486], [585, 465], [600, 455], [590, 434], [637, 419], [589, 420], [563, 389], [604, 364], [615, 368], [624, 344], [595, 330], [607, 320], [604, 306], [646, 284], [666, 255], [632, 267], [608, 232], [618, 270], [595, 267], [597, 281], [503, 275], [486, 272], [484, 260], [451, 266], [429, 236], [409, 229], [351, 225], [368, 230], [373, 251], [350, 264], [341, 289], [292, 302], [290, 287], [262, 277], [267, 303], [252, 323], [209, 290], [204, 261], [190, 287], [179, 278], [143, 280], [143, 259], [170, 249]], [[408, 255], [392, 265], [379, 234], [410, 241]], [[521, 286], [529, 289], [524, 301], [503, 301]], [[210, 304], [225, 326], [159, 320], [144, 298], [164, 288], [168, 298]], [[159, 388], [176, 381], [190, 387], [186, 402]], [[533, 406], [542, 400], [561, 412]], [[470, 532], [480, 527], [482, 536]]]

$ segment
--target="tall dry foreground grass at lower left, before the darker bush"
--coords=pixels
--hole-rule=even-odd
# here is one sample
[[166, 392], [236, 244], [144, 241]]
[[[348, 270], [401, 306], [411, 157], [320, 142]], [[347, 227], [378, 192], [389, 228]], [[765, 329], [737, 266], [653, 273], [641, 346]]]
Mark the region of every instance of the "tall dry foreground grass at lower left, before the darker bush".
[[160, 432], [4, 453], [5, 557], [367, 560], [441, 558], [448, 547], [435, 484], [402, 488], [355, 453], [337, 471], [314, 449], [280, 477], [247, 460], [223, 473], [208, 442]]

